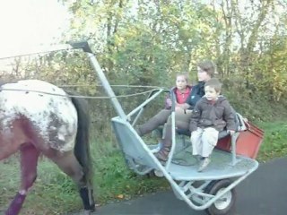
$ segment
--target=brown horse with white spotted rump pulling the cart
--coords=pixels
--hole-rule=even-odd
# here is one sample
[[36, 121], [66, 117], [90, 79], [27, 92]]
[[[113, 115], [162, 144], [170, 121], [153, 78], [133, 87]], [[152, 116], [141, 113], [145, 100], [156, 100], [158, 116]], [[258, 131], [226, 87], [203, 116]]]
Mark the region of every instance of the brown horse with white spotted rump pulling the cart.
[[39, 155], [55, 162], [79, 188], [85, 214], [95, 211], [84, 99], [39, 80], [0, 86], [0, 160], [20, 151], [21, 185], [5, 215], [17, 215], [37, 177]]

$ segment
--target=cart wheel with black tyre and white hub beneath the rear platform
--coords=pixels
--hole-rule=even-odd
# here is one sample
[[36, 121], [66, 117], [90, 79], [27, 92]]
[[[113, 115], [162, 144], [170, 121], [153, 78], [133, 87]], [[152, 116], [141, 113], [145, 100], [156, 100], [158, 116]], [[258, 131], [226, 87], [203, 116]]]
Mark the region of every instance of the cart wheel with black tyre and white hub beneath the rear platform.
[[[229, 179], [223, 179], [220, 181], [213, 181], [210, 185], [206, 187], [205, 192], [209, 194], [216, 195], [217, 193], [222, 193], [226, 187], [231, 184]], [[212, 206], [210, 206], [205, 211], [210, 215], [222, 215], [230, 214], [230, 211], [234, 209], [234, 203], [236, 200], [236, 193], [234, 188], [225, 193], [221, 199], [215, 201]]]

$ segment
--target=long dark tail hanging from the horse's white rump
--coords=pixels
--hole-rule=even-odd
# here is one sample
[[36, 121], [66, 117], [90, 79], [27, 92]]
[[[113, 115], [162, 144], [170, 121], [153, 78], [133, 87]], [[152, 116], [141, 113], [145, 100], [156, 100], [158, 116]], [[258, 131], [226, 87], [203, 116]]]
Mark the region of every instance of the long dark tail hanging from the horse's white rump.
[[[72, 95], [71, 92], [69, 92]], [[83, 167], [84, 179], [92, 187], [92, 168], [90, 152], [90, 116], [88, 103], [85, 99], [72, 97], [78, 114], [78, 130], [74, 145], [74, 156]]]

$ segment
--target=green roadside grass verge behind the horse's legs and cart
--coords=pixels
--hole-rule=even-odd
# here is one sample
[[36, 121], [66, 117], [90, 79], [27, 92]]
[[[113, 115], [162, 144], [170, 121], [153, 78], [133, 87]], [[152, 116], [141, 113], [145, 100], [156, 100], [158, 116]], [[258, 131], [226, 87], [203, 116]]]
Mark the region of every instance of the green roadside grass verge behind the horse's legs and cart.
[[[265, 139], [257, 159], [283, 157], [287, 154], [287, 123], [260, 123]], [[117, 202], [134, 198], [143, 193], [167, 189], [164, 178], [137, 176], [126, 168], [125, 160], [110, 137], [93, 142], [91, 154], [94, 164], [94, 185], [97, 203]], [[81, 199], [73, 181], [65, 176], [55, 164], [45, 158], [39, 161], [39, 176], [30, 191], [22, 210], [28, 214], [65, 214], [82, 209]], [[19, 186], [18, 157], [0, 162], [0, 213], [4, 211]]]

